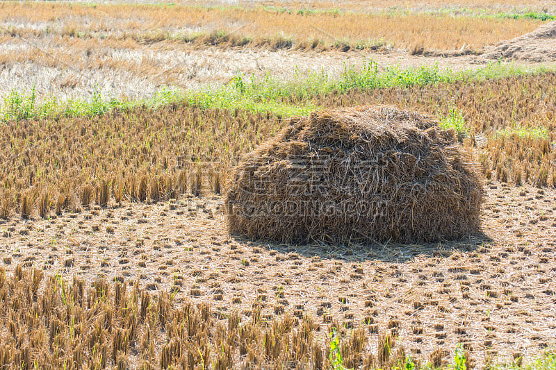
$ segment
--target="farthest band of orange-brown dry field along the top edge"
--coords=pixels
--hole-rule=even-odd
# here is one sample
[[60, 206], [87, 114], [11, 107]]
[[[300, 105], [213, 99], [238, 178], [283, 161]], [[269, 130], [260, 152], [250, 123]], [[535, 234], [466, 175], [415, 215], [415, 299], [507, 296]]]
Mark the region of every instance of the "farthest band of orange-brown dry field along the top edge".
[[[108, 37], [156, 41], [170, 37], [190, 39], [199, 33], [224, 31], [250, 37], [254, 44], [290, 39], [297, 47], [313, 40], [325, 46], [336, 42], [383, 40], [394, 47], [459, 49], [462, 44], [481, 49], [500, 40], [528, 33], [542, 22], [534, 19], [498, 19], [461, 15], [320, 13], [297, 15], [267, 8], [191, 8], [188, 6], [87, 6], [55, 3], [3, 3], [0, 21], [8, 33], [44, 37], [54, 33], [71, 37]], [[218, 40], [197, 37], [200, 42]], [[239, 42], [238, 40], [238, 42]]]

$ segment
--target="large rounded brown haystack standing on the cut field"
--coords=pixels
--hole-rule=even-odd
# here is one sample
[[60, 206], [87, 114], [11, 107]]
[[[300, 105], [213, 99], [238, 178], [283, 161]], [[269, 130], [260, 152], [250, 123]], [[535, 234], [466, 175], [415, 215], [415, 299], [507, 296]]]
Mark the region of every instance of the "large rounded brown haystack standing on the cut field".
[[436, 121], [390, 106], [290, 119], [236, 167], [229, 231], [275, 242], [457, 239], [480, 228], [482, 181]]

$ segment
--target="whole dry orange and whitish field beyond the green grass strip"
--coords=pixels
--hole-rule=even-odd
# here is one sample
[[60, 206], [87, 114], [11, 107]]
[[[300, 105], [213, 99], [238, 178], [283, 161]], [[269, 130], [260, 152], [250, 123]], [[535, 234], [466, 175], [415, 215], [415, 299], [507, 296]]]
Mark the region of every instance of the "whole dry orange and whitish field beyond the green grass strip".
[[[39, 101], [91, 99], [97, 90], [106, 99], [148, 99], [163, 87], [227, 83], [238, 72], [291, 80], [294, 71], [325, 69], [337, 76], [344, 62], [357, 67], [369, 58], [380, 65], [475, 68], [486, 60], [474, 53], [541, 24], [455, 13], [297, 15], [261, 6], [2, 3], [0, 94], [35, 87]], [[462, 47], [468, 55], [409, 55]]]

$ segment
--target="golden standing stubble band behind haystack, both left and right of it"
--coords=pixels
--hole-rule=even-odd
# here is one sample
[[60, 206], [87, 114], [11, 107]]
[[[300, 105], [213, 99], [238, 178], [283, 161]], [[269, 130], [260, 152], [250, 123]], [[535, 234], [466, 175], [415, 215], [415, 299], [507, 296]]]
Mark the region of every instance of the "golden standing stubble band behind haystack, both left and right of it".
[[[556, 186], [556, 90], [550, 88], [555, 83], [550, 72], [289, 102], [386, 103], [436, 117], [455, 109], [471, 129], [464, 145], [486, 178], [544, 187]], [[285, 124], [269, 112], [187, 104], [9, 122], [0, 132], [0, 217], [223, 194], [241, 156]], [[533, 129], [542, 135], [528, 135]]]

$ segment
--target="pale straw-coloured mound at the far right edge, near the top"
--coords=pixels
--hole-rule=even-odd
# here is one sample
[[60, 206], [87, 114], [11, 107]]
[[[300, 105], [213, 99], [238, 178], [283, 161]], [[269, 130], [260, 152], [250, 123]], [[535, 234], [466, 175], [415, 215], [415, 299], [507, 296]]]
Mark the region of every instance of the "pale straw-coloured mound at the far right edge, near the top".
[[531, 33], [502, 42], [484, 57], [552, 62], [556, 60], [556, 22], [543, 24]]

